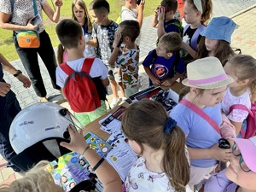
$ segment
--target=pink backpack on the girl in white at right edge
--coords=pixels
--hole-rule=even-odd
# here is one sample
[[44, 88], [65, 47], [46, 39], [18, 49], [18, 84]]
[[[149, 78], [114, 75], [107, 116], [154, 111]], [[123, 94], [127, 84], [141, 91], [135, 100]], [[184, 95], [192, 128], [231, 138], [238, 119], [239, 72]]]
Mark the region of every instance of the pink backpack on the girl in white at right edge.
[[256, 135], [256, 104], [255, 102], [252, 103], [251, 110], [248, 109], [246, 106], [241, 104], [235, 104], [230, 107], [230, 113], [234, 109], [241, 109], [247, 111], [249, 114], [247, 116], [247, 128], [244, 131], [241, 128], [241, 137], [242, 138], [250, 138]]

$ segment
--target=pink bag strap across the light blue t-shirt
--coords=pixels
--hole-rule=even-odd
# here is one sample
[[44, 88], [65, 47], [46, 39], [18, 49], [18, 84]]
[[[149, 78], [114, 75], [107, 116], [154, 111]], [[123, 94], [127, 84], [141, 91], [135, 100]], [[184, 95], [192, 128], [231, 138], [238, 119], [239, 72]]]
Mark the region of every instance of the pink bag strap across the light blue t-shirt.
[[190, 108], [192, 111], [194, 111], [195, 113], [197, 113], [199, 116], [201, 116], [202, 119], [205, 119], [211, 126], [212, 128], [218, 132], [218, 134], [221, 136], [220, 134], [220, 130], [219, 127], [217, 125], [217, 123], [210, 118], [207, 113], [204, 113], [201, 108], [198, 108], [194, 103], [189, 102], [186, 99], [181, 100], [179, 103], [183, 104], [184, 106], [186, 106], [187, 108]]

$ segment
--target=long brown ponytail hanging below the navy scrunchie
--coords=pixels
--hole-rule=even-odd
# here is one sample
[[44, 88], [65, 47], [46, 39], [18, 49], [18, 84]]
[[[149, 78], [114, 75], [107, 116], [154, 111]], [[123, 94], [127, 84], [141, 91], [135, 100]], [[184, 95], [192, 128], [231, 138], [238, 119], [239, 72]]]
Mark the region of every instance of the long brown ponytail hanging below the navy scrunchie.
[[166, 148], [162, 160], [164, 172], [175, 191], [185, 192], [189, 183], [189, 162], [185, 152], [186, 137], [177, 126], [166, 133]]

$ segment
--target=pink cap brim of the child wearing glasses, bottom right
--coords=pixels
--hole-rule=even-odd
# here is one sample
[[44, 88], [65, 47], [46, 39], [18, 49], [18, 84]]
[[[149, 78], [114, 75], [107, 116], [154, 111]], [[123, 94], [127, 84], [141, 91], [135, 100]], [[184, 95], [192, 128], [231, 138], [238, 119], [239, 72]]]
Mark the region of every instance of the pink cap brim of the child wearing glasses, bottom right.
[[256, 146], [250, 139], [242, 138], [230, 138], [233, 140], [240, 149], [243, 160], [247, 164], [247, 167], [256, 172]]

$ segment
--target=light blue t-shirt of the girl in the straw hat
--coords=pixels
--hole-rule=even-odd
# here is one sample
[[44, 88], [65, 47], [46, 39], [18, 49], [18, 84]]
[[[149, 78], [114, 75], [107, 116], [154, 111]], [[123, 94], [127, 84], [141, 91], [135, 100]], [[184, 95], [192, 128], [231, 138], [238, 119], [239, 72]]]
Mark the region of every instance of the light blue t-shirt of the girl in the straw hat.
[[[204, 113], [207, 113], [217, 125], [222, 122], [222, 116], [220, 113], [221, 104], [219, 103], [214, 107], [206, 107], [201, 109]], [[207, 120], [201, 118], [197, 113], [187, 108], [183, 104], [177, 104], [172, 109], [170, 117], [177, 121], [177, 125], [184, 131], [186, 138], [186, 144], [190, 148], [211, 148], [218, 143], [220, 135], [214, 128], [207, 122]], [[196, 167], [210, 167], [215, 166], [217, 160], [213, 159], [193, 159], [191, 165]]]

